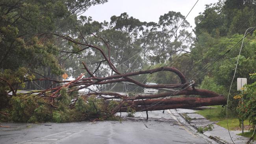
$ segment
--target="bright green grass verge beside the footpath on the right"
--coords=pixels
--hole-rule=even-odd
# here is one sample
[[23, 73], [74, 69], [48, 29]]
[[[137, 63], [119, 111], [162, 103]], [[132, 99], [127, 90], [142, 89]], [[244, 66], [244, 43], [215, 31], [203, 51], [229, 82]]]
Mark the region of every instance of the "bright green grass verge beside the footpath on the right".
[[[228, 127], [226, 121], [226, 107], [221, 107], [221, 105], [211, 106], [215, 107], [213, 109], [204, 109], [202, 111], [196, 112], [211, 121], [219, 121], [216, 124], [229, 128], [230, 130], [241, 130], [239, 127], [239, 120], [237, 118], [237, 114], [233, 111], [228, 110]], [[249, 129], [249, 122], [247, 120], [244, 121], [245, 130]]]

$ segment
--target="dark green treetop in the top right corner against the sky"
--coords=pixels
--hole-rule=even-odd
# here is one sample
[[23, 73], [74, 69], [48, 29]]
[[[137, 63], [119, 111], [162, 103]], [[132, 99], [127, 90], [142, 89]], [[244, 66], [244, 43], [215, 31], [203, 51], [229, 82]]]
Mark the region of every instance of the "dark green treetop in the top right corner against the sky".
[[[256, 22], [256, 17], [253, 14], [255, 7], [255, 2], [244, 0], [226, 0], [218, 6], [206, 5], [204, 12], [195, 18], [196, 35], [202, 30], [214, 37], [234, 35], [235, 33], [243, 34]], [[247, 20], [248, 22], [245, 23]]]

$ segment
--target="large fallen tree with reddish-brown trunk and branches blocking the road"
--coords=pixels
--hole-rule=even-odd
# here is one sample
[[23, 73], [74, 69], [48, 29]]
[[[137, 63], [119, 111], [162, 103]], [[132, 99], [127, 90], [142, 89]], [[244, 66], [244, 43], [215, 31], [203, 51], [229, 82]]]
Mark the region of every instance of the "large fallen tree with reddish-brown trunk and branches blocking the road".
[[[99, 36], [92, 34], [95, 38], [100, 39], [104, 42], [105, 46], [108, 48], [108, 54], [105, 54], [104, 51], [98, 46], [88, 44], [87, 42], [82, 43], [75, 41], [67, 35], [58, 35], [54, 33], [46, 33], [44, 35], [55, 35], [57, 37], [65, 39], [66, 41], [83, 46], [84, 48], [81, 48], [79, 52], [87, 50], [89, 48], [94, 48], [98, 50], [104, 58], [103, 61], [98, 62], [98, 68], [103, 62], [106, 62], [115, 74], [107, 77], [96, 77], [95, 72], [98, 70], [98, 68], [94, 72], [91, 72], [91, 70], [89, 70], [87, 65], [83, 62], [83, 68], [89, 74], [89, 77], [83, 77], [84, 74], [81, 74], [78, 78], [72, 81], [57, 81], [48, 78], [33, 79], [32, 81], [52, 81], [52, 83], [54, 84], [65, 83], [64, 85], [51, 87], [46, 90], [38, 92], [31, 91], [29, 93], [24, 94], [26, 96], [32, 96], [36, 93], [35, 97], [39, 100], [37, 100], [37, 104], [35, 104], [35, 107], [39, 107], [41, 104], [43, 104], [47, 106], [48, 111], [52, 111], [49, 109], [58, 109], [59, 113], [56, 112], [57, 117], [63, 114], [60, 109], [64, 109], [65, 107], [69, 107], [69, 109], [76, 109], [80, 111], [81, 116], [86, 115], [89, 117], [91, 116], [93, 118], [109, 118], [109, 116], [113, 116], [118, 112], [153, 111], [177, 108], [186, 109], [192, 107], [226, 104], [226, 99], [224, 98], [224, 96], [212, 92], [210, 90], [196, 89], [195, 82], [193, 80], [187, 81], [185, 76], [174, 67], [160, 67], [151, 70], [143, 70], [122, 74], [111, 62], [110, 47], [108, 42], [104, 41], [104, 39], [102, 39]], [[77, 52], [66, 53], [75, 54]], [[154, 74], [160, 71], [168, 71], [176, 74], [180, 79], [180, 83], [145, 85], [144, 83], [141, 83], [140, 81], [131, 78], [131, 76], [137, 76], [141, 74]], [[137, 85], [143, 88], [161, 89], [167, 92], [154, 95], [135, 94], [132, 96], [128, 96], [118, 94], [115, 92], [96, 92], [90, 90], [90, 92], [88, 93], [78, 94], [78, 90], [85, 88], [89, 89], [89, 86], [91, 85], [106, 85], [110, 83], [130, 83], [132, 85]], [[13, 92], [13, 95], [17, 95], [15, 93], [15, 90], [13, 90], [13, 88], [11, 87], [11, 85], [9, 85], [9, 87]], [[76, 94], [74, 95], [74, 93]], [[69, 97], [69, 95], [72, 96]], [[184, 97], [190, 95], [202, 96], [203, 98]], [[173, 96], [176, 97], [174, 98]], [[88, 109], [91, 109], [91, 111], [88, 111]], [[52, 113], [54, 115], [54, 112]], [[74, 111], [72, 111], [71, 113], [74, 113]]]

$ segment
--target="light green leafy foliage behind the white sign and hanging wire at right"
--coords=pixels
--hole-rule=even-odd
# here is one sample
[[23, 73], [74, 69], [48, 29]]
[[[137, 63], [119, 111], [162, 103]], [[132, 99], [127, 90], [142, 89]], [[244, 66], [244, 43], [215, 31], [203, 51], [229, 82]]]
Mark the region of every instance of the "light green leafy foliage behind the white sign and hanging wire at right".
[[[205, 37], [207, 36], [204, 35]], [[243, 35], [233, 35], [232, 38], [226, 37], [200, 37], [195, 48], [191, 49], [191, 58], [195, 61], [195, 72], [204, 69], [209, 66], [212, 61], [225, 54], [232, 46], [234, 46]], [[241, 44], [241, 43], [240, 43]], [[200, 88], [210, 89], [217, 93], [228, 96], [228, 88], [230, 87], [232, 77], [234, 76], [234, 70], [241, 47], [237, 44], [230, 52], [227, 52], [224, 57], [216, 61], [213, 65], [207, 68], [207, 71], [201, 72], [195, 77], [197, 83], [201, 83]], [[208, 46], [205, 48], [205, 46]], [[239, 63], [237, 65], [236, 76], [237, 78], [247, 78], [248, 83], [253, 81], [249, 79], [249, 74], [256, 71], [256, 51], [255, 51], [255, 34], [249, 35], [244, 39], [243, 48], [239, 57]], [[199, 55], [200, 54], [200, 55]], [[193, 70], [192, 70], [193, 72]], [[209, 78], [207, 77], [209, 76]], [[230, 96], [237, 95], [236, 82], [233, 83]], [[232, 98], [229, 99], [228, 108], [235, 110], [238, 105], [238, 100]]]

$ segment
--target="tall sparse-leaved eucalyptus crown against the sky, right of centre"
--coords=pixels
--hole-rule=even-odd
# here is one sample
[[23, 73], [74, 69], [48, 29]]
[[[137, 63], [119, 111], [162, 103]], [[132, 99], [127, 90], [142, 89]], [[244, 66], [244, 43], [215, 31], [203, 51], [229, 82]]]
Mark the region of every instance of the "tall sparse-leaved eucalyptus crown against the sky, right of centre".
[[172, 55], [175, 55], [178, 50], [185, 49], [186, 44], [191, 41], [192, 37], [187, 30], [190, 27], [189, 22], [180, 12], [169, 11], [161, 15], [152, 58], [161, 63], [171, 61]]

